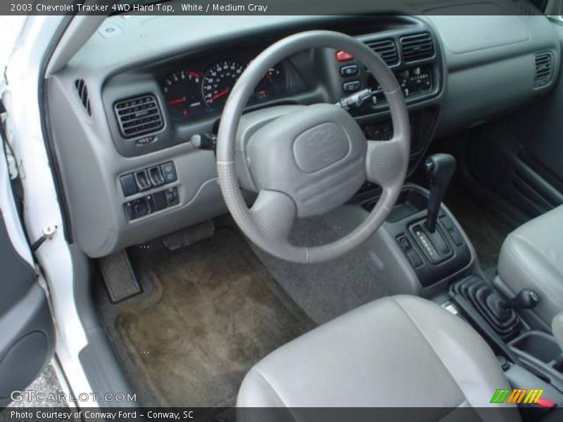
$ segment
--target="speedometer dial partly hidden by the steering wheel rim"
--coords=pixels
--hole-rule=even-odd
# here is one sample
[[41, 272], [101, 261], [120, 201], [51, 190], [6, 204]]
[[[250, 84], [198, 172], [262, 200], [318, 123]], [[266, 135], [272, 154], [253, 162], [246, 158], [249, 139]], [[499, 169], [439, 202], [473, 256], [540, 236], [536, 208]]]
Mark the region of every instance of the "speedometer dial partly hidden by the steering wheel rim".
[[214, 63], [203, 75], [203, 101], [213, 109], [221, 108], [244, 70], [244, 65], [234, 60]]

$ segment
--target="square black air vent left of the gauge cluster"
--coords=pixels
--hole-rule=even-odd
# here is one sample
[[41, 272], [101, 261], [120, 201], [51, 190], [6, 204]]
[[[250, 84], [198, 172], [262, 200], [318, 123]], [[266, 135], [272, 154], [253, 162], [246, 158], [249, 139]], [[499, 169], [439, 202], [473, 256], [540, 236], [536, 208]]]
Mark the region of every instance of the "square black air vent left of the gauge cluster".
[[114, 110], [125, 138], [150, 134], [164, 126], [158, 101], [150, 94], [120, 100], [115, 103]]

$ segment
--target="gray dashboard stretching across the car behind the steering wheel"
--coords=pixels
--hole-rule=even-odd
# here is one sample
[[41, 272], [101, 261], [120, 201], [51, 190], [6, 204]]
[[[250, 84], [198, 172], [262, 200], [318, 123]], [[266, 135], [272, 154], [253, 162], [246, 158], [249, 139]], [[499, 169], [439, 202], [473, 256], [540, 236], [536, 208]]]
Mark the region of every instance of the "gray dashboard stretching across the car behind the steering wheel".
[[[189, 118], [182, 118], [182, 108], [171, 108], [177, 103], [166, 95], [167, 80], [172, 75], [182, 78], [182, 71], [184, 78], [189, 77], [185, 72], [193, 72], [191, 77], [199, 75], [197, 84], [203, 84], [215, 63], [251, 60], [287, 34], [339, 30], [376, 43], [377, 48], [388, 47], [390, 41], [396, 46], [397, 58], [389, 58], [389, 64], [405, 82], [412, 124], [420, 129], [415, 134], [422, 139], [415, 143], [412, 166], [436, 134], [491, 119], [545, 94], [555, 84], [560, 47], [547, 18], [435, 13], [418, 17], [199, 16], [189, 20], [189, 25], [190, 18], [185, 16], [108, 18], [46, 85], [72, 241], [90, 257], [101, 257], [226, 212], [213, 151], [189, 143], [193, 134], [216, 130], [220, 107], [202, 103], [193, 119], [195, 107], [187, 110]], [[433, 54], [408, 61], [403, 44], [421, 34], [431, 40]], [[551, 63], [550, 76], [540, 84], [535, 80], [538, 54], [547, 54]], [[322, 50], [288, 58], [280, 64], [283, 89], [258, 98], [249, 107], [336, 102], [346, 95], [347, 82], [376, 87], [361, 63], [339, 62], [335, 57], [335, 51]], [[358, 73], [341, 75], [341, 68], [350, 64], [358, 64]], [[430, 84], [424, 85], [426, 79]], [[193, 92], [200, 89], [193, 80], [190, 83], [194, 83]], [[141, 123], [142, 133], [131, 136], [125, 134], [119, 113], [135, 114], [137, 108], [160, 110], [160, 120], [151, 117]], [[358, 110], [355, 117], [362, 128], [377, 136], [384, 132], [388, 112], [379, 101]], [[148, 186], [140, 189], [139, 178], [144, 177]], [[137, 214], [143, 203], [149, 212]]]

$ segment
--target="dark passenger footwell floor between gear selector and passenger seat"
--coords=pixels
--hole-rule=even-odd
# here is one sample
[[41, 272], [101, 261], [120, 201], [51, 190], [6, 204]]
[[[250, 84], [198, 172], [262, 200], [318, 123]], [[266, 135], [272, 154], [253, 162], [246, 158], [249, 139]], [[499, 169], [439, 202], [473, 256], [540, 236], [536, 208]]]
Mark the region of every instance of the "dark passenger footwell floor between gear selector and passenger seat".
[[483, 271], [494, 277], [502, 242], [516, 226], [455, 185], [448, 188], [444, 203], [472, 241]]

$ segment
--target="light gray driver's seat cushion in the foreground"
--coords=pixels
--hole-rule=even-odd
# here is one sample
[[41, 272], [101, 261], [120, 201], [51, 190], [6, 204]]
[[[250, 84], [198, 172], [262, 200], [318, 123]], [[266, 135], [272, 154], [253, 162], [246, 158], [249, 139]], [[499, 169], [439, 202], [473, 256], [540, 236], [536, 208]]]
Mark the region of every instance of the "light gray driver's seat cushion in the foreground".
[[474, 407], [479, 420], [520, 421], [511, 404], [483, 409], [499, 388], [507, 379], [471, 326], [434, 302], [398, 295], [274, 350], [248, 371], [236, 405], [449, 408], [436, 421]]

